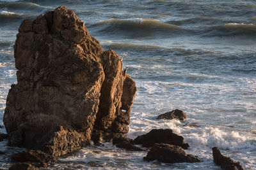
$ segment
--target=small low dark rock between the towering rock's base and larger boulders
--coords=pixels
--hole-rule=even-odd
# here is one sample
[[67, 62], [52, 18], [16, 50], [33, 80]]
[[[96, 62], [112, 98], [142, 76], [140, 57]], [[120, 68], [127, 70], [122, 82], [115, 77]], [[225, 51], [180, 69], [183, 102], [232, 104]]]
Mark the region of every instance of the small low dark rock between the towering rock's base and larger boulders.
[[134, 146], [130, 138], [114, 138], [113, 145], [116, 145], [117, 148], [124, 148], [125, 150], [143, 151], [141, 148]]

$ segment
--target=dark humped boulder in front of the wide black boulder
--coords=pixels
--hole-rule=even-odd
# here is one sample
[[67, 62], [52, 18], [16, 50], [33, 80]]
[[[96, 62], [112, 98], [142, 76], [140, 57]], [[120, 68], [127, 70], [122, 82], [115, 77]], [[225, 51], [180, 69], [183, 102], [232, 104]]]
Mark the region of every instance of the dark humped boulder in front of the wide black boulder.
[[180, 146], [156, 143], [150, 148], [144, 160], [158, 160], [164, 163], [201, 162], [200, 157], [186, 154]]

